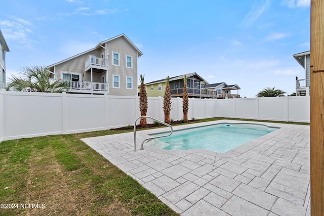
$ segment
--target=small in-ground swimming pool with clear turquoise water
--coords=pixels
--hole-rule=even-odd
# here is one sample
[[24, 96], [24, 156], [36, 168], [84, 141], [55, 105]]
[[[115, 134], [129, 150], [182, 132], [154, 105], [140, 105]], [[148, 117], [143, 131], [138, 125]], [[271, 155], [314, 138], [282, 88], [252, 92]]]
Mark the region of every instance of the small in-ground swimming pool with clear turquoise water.
[[[218, 123], [174, 131], [170, 137], [157, 138], [148, 144], [166, 150], [207, 149], [225, 153], [279, 127], [252, 123]], [[167, 133], [150, 134], [160, 136]]]

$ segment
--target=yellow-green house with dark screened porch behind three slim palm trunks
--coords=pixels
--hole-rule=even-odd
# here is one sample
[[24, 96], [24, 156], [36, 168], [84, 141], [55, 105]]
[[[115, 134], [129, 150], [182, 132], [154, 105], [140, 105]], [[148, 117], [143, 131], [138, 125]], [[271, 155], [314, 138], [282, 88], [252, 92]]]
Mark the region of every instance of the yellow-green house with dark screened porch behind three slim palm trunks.
[[[208, 82], [201, 76], [199, 76], [197, 73], [188, 73], [180, 76], [170, 77], [171, 97], [182, 97], [184, 85], [183, 78], [185, 75], [187, 76], [187, 88], [189, 98], [209, 98], [208, 95], [206, 95], [206, 93], [203, 91], [201, 91], [200, 94], [200, 83]], [[166, 90], [167, 85], [166, 78], [146, 83], [145, 88], [147, 96], [164, 97], [164, 92]], [[140, 90], [140, 86], [138, 87], [138, 90]]]

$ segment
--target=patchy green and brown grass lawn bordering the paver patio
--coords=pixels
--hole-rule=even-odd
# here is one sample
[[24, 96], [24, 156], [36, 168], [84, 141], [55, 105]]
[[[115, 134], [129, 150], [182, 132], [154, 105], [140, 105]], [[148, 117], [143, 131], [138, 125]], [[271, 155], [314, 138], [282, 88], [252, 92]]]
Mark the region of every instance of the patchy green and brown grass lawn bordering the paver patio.
[[0, 215], [178, 215], [80, 141], [125, 132], [132, 130], [0, 143], [0, 204], [11, 207], [2, 205]]

